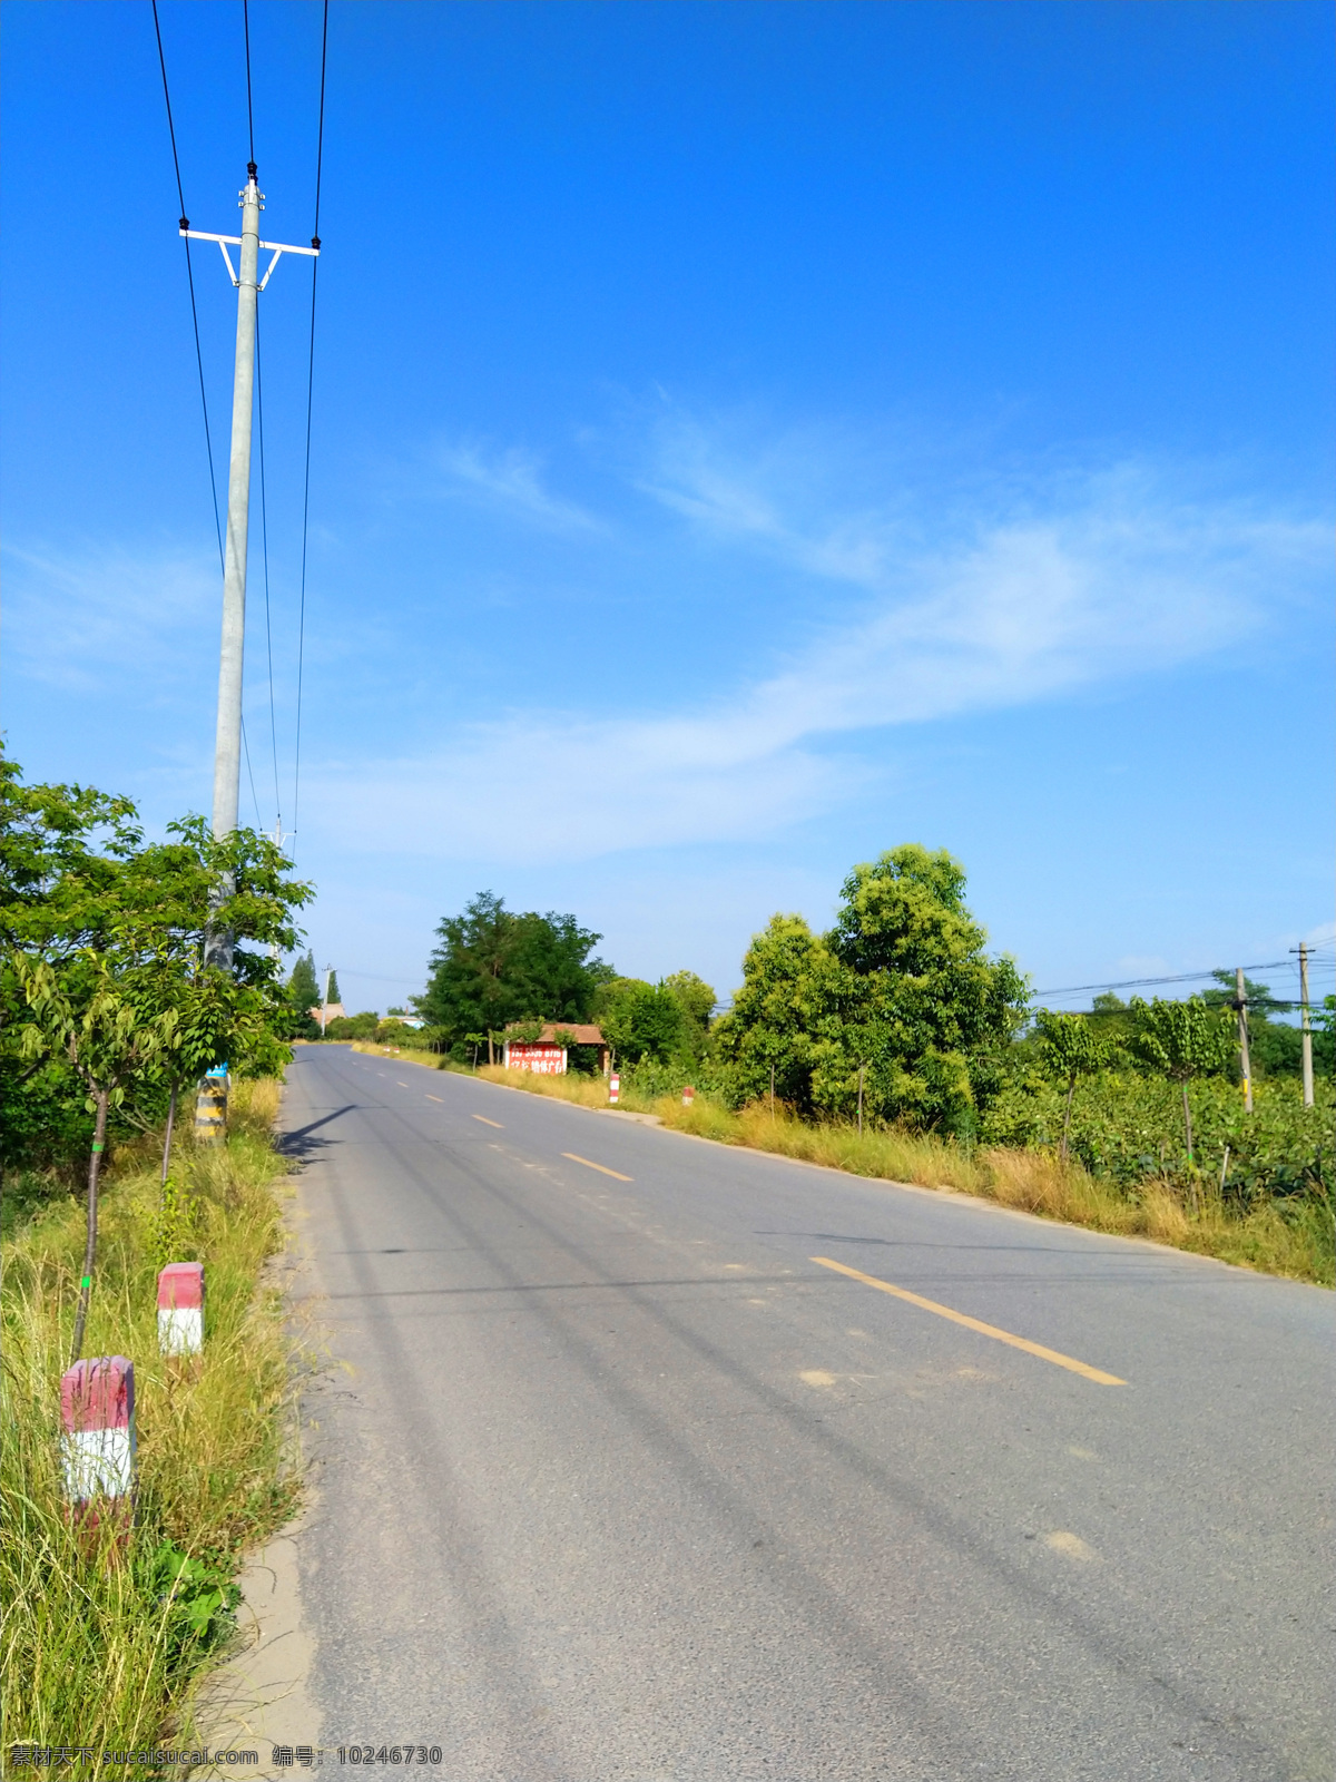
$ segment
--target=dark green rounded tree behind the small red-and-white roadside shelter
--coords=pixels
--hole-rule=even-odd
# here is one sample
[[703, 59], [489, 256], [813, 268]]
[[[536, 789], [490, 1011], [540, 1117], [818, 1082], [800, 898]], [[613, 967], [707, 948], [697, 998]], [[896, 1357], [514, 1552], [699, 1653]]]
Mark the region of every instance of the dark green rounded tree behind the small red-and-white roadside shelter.
[[574, 916], [517, 914], [495, 893], [479, 891], [436, 934], [442, 944], [417, 1010], [444, 1028], [447, 1044], [486, 1034], [492, 1062], [497, 1037], [515, 1021], [590, 1019], [604, 975], [590, 959], [599, 936]]

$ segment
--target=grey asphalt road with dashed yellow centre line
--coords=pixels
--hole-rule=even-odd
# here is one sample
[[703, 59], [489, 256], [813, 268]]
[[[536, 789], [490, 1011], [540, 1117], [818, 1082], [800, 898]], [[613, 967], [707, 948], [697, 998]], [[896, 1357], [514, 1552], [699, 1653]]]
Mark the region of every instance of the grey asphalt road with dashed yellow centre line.
[[344, 1048], [285, 1128], [326, 1748], [1336, 1773], [1331, 1294]]

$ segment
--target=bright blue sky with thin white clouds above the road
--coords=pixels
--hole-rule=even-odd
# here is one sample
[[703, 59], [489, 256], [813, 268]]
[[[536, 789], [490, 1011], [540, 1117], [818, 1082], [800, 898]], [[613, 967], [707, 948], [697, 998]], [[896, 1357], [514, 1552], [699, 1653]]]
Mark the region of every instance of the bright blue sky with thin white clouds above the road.
[[[240, 5], [160, 18], [232, 232]], [[280, 241], [319, 30], [251, 5]], [[335, 0], [294, 846], [346, 1000], [481, 887], [727, 994], [901, 841], [1040, 989], [1331, 957], [1331, 50], [1325, 0]], [[4, 727], [157, 825], [219, 572], [146, 0], [7, 0], [2, 125]], [[260, 303], [242, 813], [290, 829], [305, 266]]]

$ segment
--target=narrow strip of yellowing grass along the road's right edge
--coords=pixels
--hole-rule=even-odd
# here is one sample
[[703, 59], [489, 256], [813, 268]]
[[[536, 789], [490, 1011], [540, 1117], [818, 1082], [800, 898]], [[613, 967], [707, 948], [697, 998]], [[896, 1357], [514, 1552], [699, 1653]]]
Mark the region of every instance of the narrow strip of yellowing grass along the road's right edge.
[[[472, 1073], [468, 1073], [472, 1075]], [[529, 1094], [607, 1107], [607, 1085], [590, 1076], [531, 1076], [483, 1066], [486, 1082]], [[697, 1094], [648, 1096], [622, 1080], [620, 1107], [656, 1114], [664, 1126], [721, 1144], [794, 1157], [880, 1181], [974, 1194], [1019, 1212], [1088, 1226], [1119, 1237], [1144, 1237], [1176, 1249], [1217, 1256], [1263, 1274], [1336, 1285], [1336, 1226], [1331, 1203], [1315, 1192], [1236, 1205], [1220, 1198], [1215, 1178], [1147, 1173], [1136, 1181], [1092, 1174], [1079, 1162], [1060, 1164], [1051, 1146], [962, 1148], [932, 1133], [866, 1130], [839, 1121], [794, 1119], [764, 1101], [737, 1112]]]

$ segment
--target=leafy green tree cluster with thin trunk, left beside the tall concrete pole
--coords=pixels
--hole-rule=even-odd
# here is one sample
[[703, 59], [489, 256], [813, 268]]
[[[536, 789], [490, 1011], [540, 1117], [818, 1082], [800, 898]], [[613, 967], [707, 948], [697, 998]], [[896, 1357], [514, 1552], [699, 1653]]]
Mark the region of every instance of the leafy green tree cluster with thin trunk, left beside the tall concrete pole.
[[[274, 1034], [283, 998], [269, 948], [294, 944], [292, 911], [310, 887], [285, 877], [290, 862], [265, 836], [216, 839], [203, 818], [185, 818], [169, 825], [167, 841], [144, 845], [128, 800], [25, 786], [14, 763], [0, 768], [5, 1098], [23, 1094], [27, 1075], [59, 1067], [94, 1116], [82, 1342], [112, 1112], [143, 1126], [166, 1094], [169, 1146], [182, 1082], [221, 1057], [257, 1069], [287, 1057]], [[230, 975], [205, 966], [214, 921], [267, 950], [239, 944]]]

